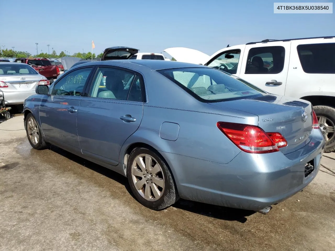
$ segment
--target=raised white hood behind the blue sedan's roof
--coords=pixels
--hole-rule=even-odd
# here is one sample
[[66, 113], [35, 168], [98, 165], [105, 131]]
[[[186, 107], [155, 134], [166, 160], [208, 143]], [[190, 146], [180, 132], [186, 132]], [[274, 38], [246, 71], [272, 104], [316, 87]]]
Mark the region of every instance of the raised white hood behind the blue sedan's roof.
[[164, 52], [170, 54], [177, 61], [184, 63], [205, 64], [210, 59], [210, 56], [203, 52], [185, 47], [167, 48]]

